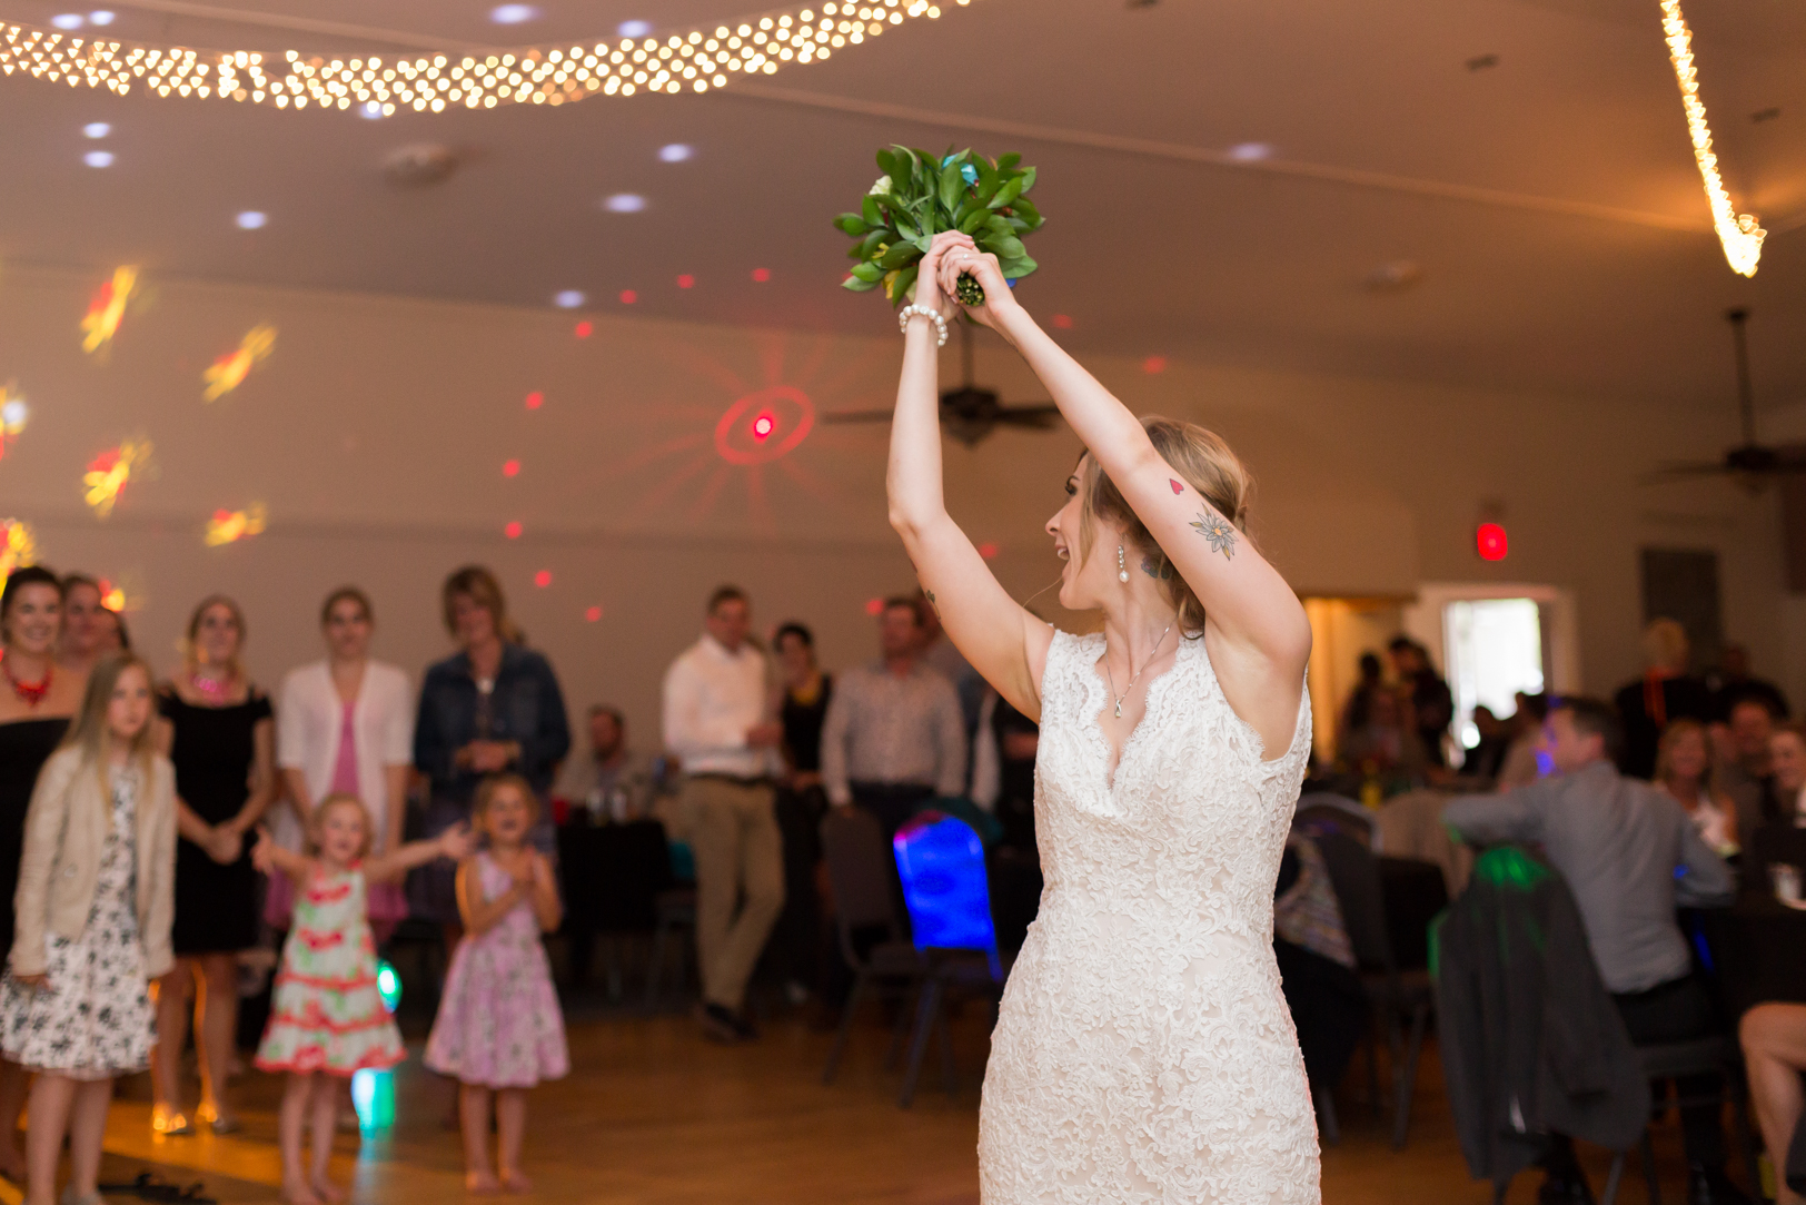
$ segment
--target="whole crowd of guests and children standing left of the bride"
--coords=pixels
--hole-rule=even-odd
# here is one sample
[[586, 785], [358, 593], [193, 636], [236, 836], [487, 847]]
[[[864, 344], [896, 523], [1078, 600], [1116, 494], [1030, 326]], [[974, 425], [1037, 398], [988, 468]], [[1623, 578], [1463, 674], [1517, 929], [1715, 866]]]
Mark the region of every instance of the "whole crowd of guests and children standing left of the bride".
[[[524, 1189], [526, 1089], [567, 1070], [540, 943], [562, 914], [554, 811], [665, 826], [697, 887], [697, 1019], [722, 1042], [757, 1037], [746, 988], [762, 959], [796, 1001], [833, 1008], [843, 990], [825, 939], [829, 808], [894, 833], [937, 799], [977, 797], [1033, 856], [1035, 726], [982, 687], [921, 596], [883, 603], [874, 661], [829, 674], [805, 625], [762, 641], [748, 596], [721, 587], [666, 674], [661, 757], [632, 750], [607, 703], [573, 755], [558, 677], [488, 569], [446, 578], [442, 621], [457, 650], [415, 692], [370, 654], [368, 596], [336, 589], [323, 658], [267, 692], [244, 667], [249, 625], [231, 598], [195, 605], [181, 661], [157, 676], [92, 578], [7, 578], [0, 1174], [34, 1203], [54, 1200], [65, 1135], [69, 1200], [94, 1200], [114, 1077], [150, 1068], [159, 1135], [238, 1129], [240, 976], [273, 941], [256, 1066], [287, 1075], [284, 1194], [341, 1200], [325, 1158], [343, 1080], [401, 1059], [376, 948], [408, 918], [453, 950], [426, 1060], [461, 1082], [470, 1185]], [[405, 842], [410, 808], [419, 840]], [[7, 1122], [27, 1086], [22, 1156]]]

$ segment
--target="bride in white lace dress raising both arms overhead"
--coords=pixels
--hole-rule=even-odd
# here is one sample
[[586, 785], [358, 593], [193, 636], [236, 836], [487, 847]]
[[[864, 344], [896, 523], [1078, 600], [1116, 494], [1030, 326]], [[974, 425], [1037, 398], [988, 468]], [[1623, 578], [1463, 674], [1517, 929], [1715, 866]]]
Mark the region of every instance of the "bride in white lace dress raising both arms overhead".
[[[997, 584], [941, 497], [936, 349], [970, 273], [1085, 443], [1047, 520], [1057, 632]], [[979, 1115], [984, 1205], [1318, 1201], [1317, 1127], [1273, 961], [1273, 883], [1309, 750], [1311, 631], [1243, 533], [1212, 432], [1136, 419], [943, 233], [903, 311], [890, 522], [928, 602], [1040, 717], [1046, 891], [1004, 992]]]

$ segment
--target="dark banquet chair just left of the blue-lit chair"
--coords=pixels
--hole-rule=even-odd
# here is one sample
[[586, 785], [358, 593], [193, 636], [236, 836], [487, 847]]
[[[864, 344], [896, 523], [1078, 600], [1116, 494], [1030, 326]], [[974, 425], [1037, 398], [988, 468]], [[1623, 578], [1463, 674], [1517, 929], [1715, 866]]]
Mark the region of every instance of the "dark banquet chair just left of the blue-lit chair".
[[840, 1030], [827, 1051], [827, 1066], [822, 1068], [822, 1082], [833, 1084], [852, 1033], [852, 1015], [867, 994], [899, 1001], [885, 1066], [896, 1059], [903, 1024], [908, 1021], [901, 1001], [919, 994], [928, 977], [928, 959], [903, 938], [890, 887], [890, 851], [876, 817], [858, 808], [831, 809], [822, 818], [822, 855], [834, 892], [840, 954], [852, 968], [852, 992], [840, 1012]]

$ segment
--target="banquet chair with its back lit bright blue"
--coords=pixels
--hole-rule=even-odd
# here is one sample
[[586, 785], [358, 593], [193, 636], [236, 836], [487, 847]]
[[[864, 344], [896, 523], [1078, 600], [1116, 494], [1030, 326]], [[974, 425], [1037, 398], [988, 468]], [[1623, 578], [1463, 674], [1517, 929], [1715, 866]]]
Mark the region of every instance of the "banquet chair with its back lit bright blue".
[[941, 1048], [946, 1095], [957, 1089], [954, 1046], [946, 1032], [946, 997], [955, 990], [1002, 995], [1004, 965], [997, 952], [991, 920], [990, 878], [984, 844], [964, 820], [923, 811], [892, 838], [910, 934], [928, 963], [928, 977], [916, 997], [916, 1026], [908, 1068], [903, 1073], [899, 1107], [916, 1098], [916, 1082], [928, 1051], [930, 1032]]

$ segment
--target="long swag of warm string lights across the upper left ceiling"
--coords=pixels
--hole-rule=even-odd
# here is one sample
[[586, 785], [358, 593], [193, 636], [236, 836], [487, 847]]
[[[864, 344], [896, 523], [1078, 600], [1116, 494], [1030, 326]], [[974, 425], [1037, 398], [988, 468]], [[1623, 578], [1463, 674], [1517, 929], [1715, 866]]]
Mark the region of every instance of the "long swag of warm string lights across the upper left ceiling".
[[152, 47], [0, 23], [0, 72], [87, 83], [119, 96], [143, 83], [154, 96], [437, 114], [455, 107], [565, 105], [598, 94], [708, 92], [733, 74], [771, 76], [793, 63], [824, 61], [921, 16], [937, 18], [941, 7], [930, 0], [831, 2], [663, 36], [394, 60]]

